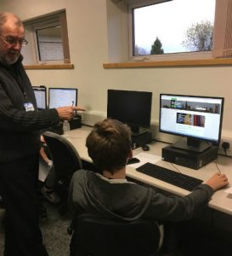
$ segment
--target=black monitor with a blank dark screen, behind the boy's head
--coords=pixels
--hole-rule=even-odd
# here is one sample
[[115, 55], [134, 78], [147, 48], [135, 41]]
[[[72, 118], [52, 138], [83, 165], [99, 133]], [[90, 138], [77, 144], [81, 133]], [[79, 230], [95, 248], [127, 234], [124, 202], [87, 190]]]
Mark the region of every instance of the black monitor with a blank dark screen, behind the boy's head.
[[131, 127], [133, 133], [150, 128], [152, 92], [108, 90], [107, 117], [118, 119]]

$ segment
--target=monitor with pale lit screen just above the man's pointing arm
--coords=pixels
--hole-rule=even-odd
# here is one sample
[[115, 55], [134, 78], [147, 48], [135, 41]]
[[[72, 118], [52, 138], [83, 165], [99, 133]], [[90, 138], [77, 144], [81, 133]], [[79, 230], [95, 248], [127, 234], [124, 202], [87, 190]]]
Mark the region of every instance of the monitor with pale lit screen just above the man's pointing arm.
[[75, 88], [49, 88], [48, 91], [48, 108], [77, 105], [77, 89]]

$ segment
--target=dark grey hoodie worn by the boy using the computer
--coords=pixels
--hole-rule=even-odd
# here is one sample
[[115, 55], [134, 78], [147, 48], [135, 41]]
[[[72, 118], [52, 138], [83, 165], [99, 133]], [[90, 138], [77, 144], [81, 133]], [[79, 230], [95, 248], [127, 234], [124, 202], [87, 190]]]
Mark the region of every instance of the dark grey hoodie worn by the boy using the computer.
[[70, 204], [76, 214], [93, 213], [105, 218], [180, 221], [207, 206], [212, 189], [201, 184], [190, 195], [165, 196], [136, 183], [111, 183], [94, 172], [80, 170], [71, 180]]

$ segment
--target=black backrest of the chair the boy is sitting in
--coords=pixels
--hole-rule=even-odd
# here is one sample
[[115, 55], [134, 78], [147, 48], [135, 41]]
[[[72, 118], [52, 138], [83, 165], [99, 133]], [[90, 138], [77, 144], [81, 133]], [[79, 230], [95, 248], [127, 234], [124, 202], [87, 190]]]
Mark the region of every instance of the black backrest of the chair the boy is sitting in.
[[76, 219], [71, 256], [150, 256], [160, 242], [156, 221], [124, 222], [82, 214]]

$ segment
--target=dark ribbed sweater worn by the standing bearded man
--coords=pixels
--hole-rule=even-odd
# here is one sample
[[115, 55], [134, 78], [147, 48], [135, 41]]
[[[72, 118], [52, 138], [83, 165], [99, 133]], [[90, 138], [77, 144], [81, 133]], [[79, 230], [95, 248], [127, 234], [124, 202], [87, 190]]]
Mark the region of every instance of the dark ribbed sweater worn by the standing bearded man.
[[[0, 63], [0, 163], [38, 152], [39, 130], [59, 121], [55, 109], [37, 111], [31, 83], [21, 61], [22, 56], [10, 67]], [[25, 112], [25, 102], [31, 102], [35, 111]]]

